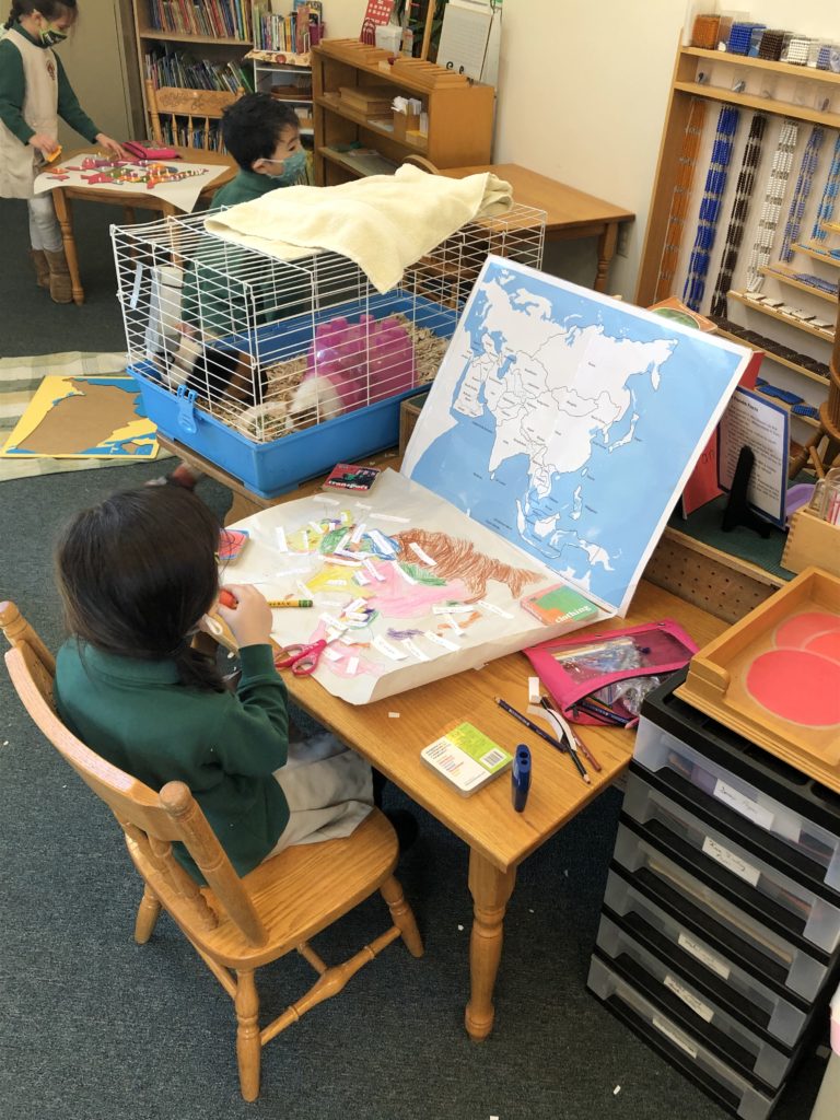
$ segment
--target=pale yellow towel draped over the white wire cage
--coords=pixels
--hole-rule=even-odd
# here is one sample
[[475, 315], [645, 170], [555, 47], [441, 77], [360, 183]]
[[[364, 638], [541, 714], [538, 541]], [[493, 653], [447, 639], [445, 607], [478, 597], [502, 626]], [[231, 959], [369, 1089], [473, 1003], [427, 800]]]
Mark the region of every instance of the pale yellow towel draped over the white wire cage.
[[449, 179], [405, 165], [337, 187], [284, 187], [207, 217], [224, 241], [293, 261], [328, 250], [354, 261], [377, 291], [476, 217], [504, 214], [513, 190], [495, 175]]

